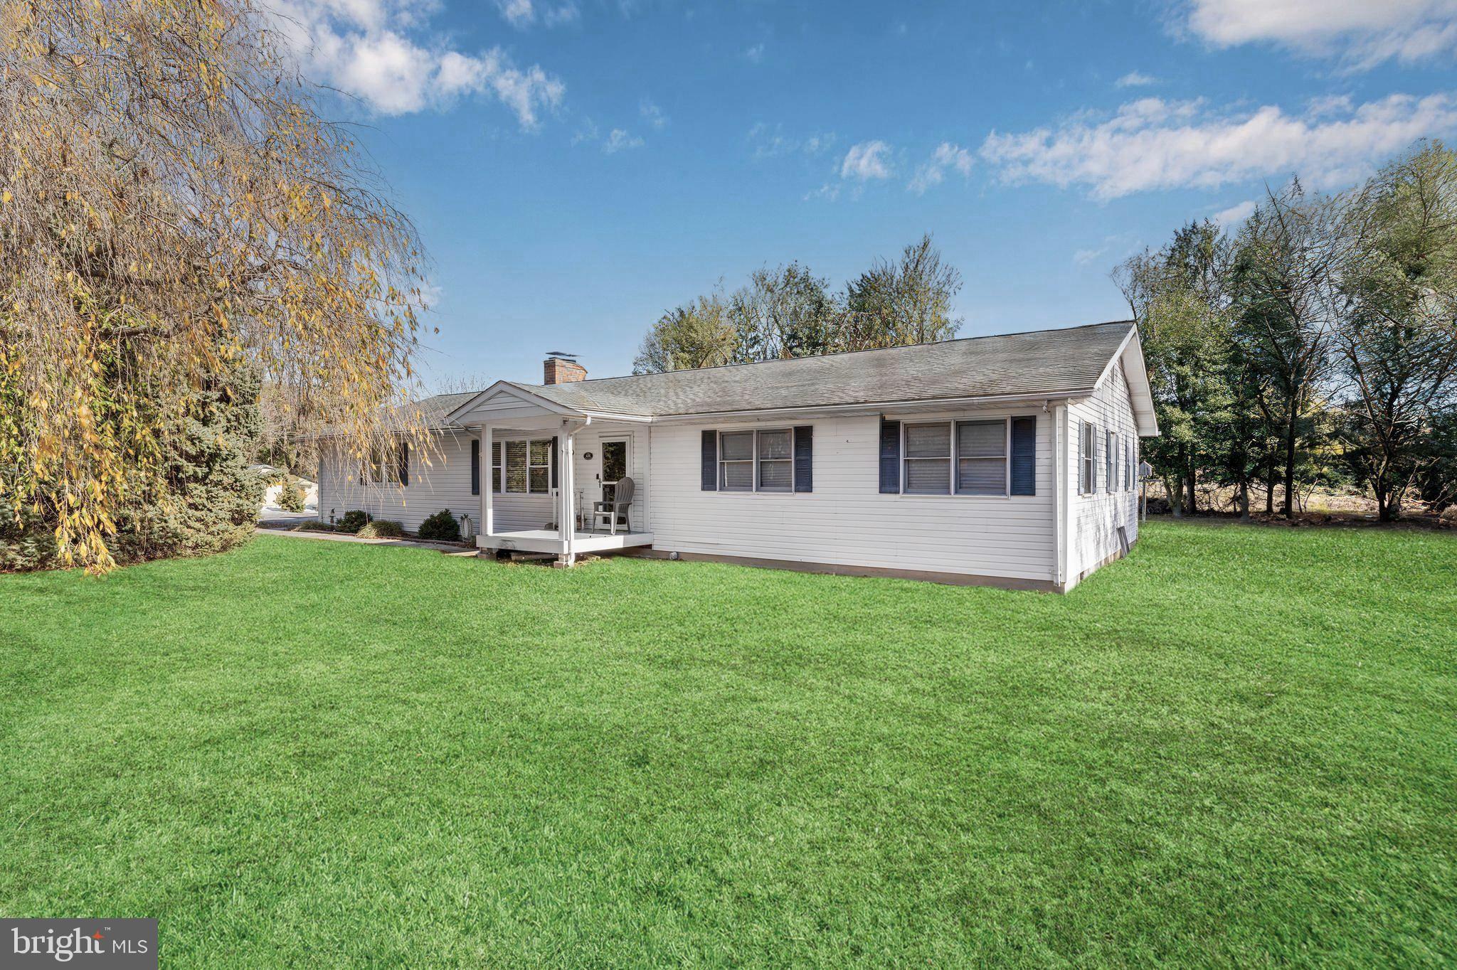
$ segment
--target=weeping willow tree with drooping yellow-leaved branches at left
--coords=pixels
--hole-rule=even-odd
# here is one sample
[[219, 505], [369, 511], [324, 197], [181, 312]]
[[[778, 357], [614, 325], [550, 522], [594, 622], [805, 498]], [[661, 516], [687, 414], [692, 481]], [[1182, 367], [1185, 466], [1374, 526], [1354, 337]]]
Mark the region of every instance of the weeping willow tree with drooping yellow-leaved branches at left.
[[115, 564], [220, 374], [425, 447], [414, 229], [278, 39], [254, 0], [0, 4], [0, 511], [64, 565]]

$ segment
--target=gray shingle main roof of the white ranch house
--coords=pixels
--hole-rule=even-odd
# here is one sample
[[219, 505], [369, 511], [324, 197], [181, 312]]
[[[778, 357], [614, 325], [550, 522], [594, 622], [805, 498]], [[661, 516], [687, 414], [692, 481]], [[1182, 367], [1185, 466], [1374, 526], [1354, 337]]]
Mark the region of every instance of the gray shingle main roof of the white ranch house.
[[[1091, 390], [1132, 320], [1059, 331], [969, 336], [940, 344], [730, 364], [564, 385], [510, 382], [567, 408], [669, 417], [900, 401], [1068, 395]], [[420, 402], [443, 424], [474, 395]]]

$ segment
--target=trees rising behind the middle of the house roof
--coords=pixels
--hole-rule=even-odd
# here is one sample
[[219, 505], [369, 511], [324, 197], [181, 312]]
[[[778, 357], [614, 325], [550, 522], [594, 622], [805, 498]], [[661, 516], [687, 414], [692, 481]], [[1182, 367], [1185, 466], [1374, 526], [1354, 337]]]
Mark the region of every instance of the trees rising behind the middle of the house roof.
[[632, 373], [950, 339], [962, 326], [951, 309], [960, 288], [962, 274], [930, 234], [898, 259], [877, 259], [839, 293], [798, 262], [765, 267], [730, 294], [720, 285], [664, 312], [648, 328]]

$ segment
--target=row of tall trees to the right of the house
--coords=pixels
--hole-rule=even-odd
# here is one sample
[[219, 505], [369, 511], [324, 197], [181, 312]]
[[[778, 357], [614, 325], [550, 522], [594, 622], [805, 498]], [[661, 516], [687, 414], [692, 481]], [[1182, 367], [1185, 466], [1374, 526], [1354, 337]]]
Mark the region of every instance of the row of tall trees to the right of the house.
[[1351, 191], [1268, 191], [1113, 271], [1138, 320], [1176, 516], [1198, 486], [1292, 517], [1356, 486], [1383, 521], [1457, 501], [1457, 154], [1423, 143]]

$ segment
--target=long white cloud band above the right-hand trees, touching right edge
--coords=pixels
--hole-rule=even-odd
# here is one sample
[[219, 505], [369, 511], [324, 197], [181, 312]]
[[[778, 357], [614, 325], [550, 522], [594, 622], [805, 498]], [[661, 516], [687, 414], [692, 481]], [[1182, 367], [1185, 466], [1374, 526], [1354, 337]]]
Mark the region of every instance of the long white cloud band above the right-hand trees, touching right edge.
[[1101, 119], [1084, 112], [1055, 127], [994, 131], [981, 156], [1004, 182], [1081, 185], [1097, 200], [1291, 175], [1314, 188], [1336, 188], [1421, 137], [1454, 130], [1451, 93], [1390, 95], [1303, 115], [1273, 105], [1215, 112], [1203, 100], [1144, 98]]

